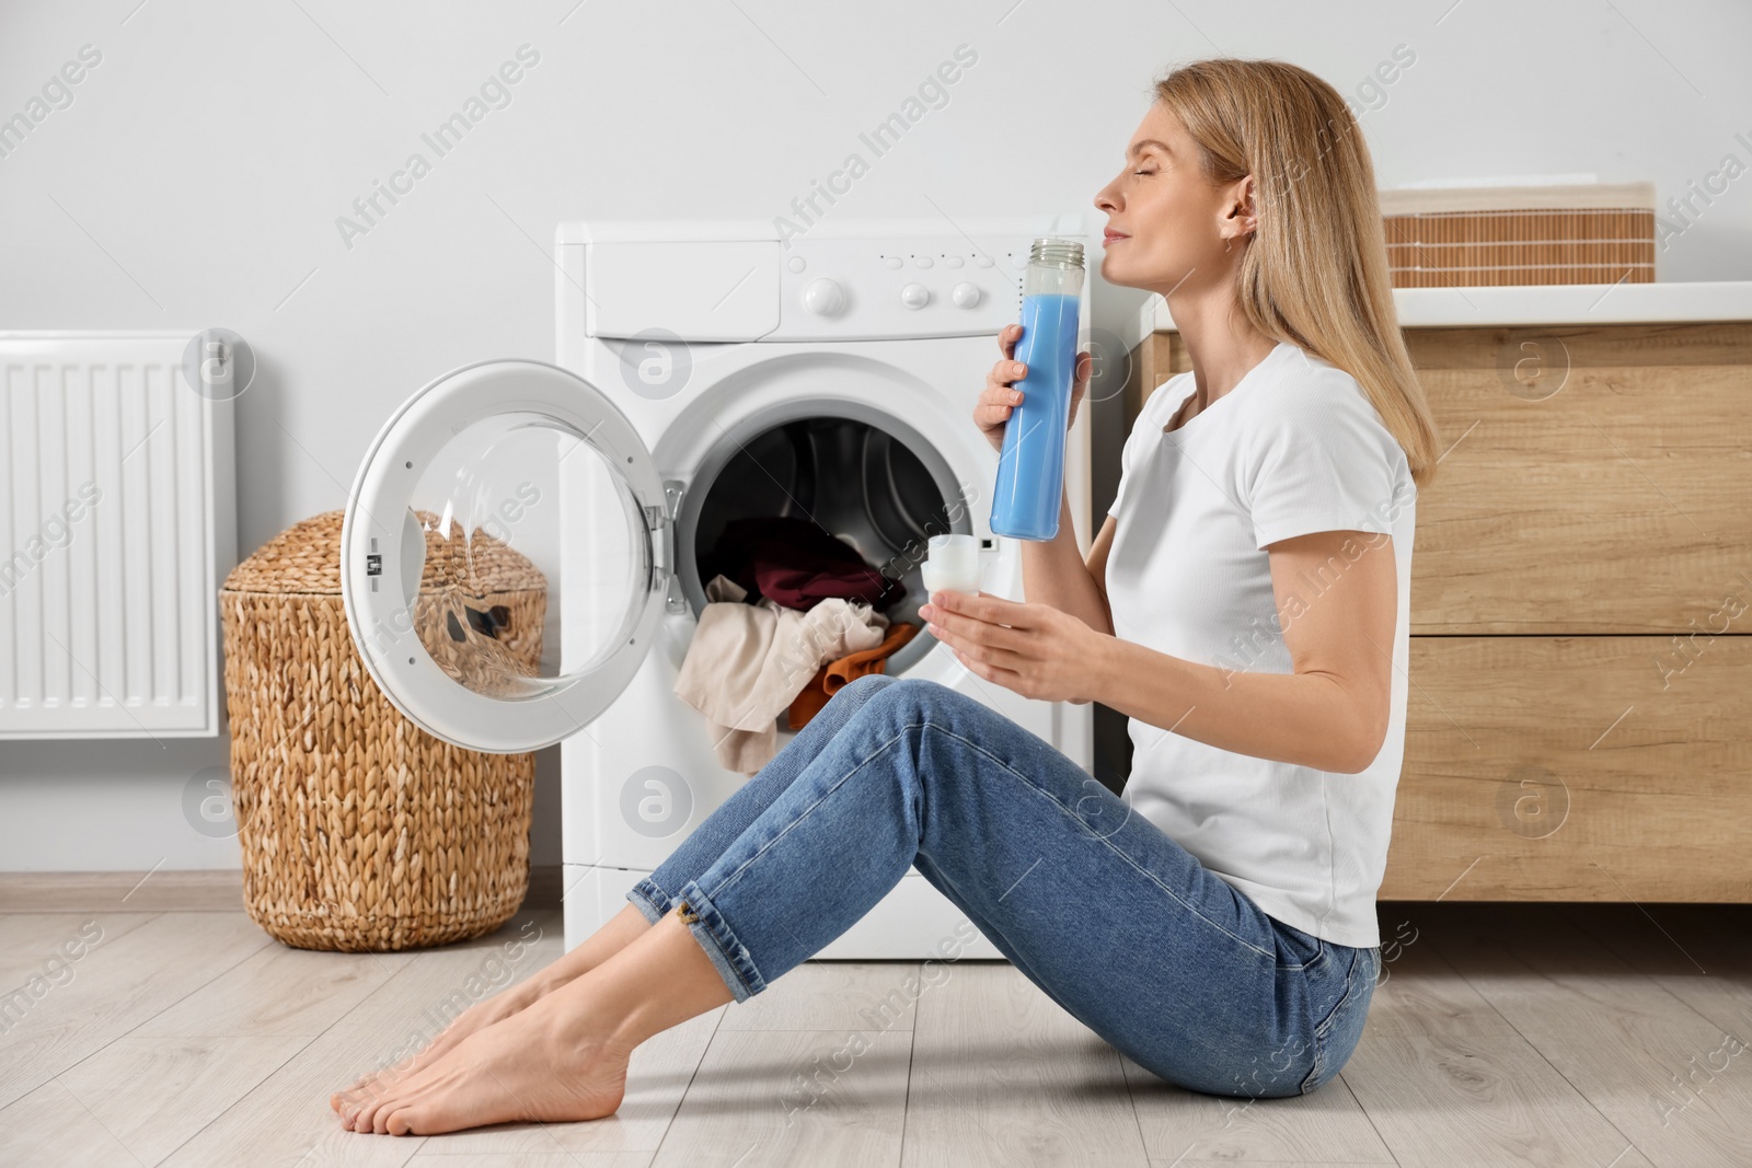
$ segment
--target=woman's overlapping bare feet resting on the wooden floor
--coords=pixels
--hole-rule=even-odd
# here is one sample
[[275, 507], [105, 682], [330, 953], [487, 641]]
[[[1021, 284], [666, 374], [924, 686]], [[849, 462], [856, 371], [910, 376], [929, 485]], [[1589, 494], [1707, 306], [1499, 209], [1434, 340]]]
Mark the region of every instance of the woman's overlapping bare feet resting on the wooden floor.
[[543, 998], [463, 1038], [429, 1066], [375, 1098], [350, 1098], [342, 1126], [378, 1135], [438, 1135], [513, 1121], [571, 1122], [611, 1115], [625, 1094], [627, 1059], [578, 1040]]

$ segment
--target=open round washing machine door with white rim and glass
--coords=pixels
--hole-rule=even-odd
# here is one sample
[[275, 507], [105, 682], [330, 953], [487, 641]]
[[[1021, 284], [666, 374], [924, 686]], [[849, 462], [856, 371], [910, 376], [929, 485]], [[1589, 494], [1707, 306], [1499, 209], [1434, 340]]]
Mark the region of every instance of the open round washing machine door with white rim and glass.
[[378, 688], [427, 734], [491, 753], [550, 746], [638, 672], [671, 588], [673, 529], [657, 464], [606, 394], [538, 361], [464, 366], [413, 394], [359, 464], [342, 525], [347, 623]]

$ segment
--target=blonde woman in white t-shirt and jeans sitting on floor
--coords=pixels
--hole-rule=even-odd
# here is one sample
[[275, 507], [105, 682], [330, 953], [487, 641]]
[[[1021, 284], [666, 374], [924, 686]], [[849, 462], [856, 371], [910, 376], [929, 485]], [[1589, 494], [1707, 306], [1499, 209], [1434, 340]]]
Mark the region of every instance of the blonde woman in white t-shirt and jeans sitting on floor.
[[[331, 1098], [356, 1131], [611, 1114], [645, 1038], [743, 1002], [916, 865], [1107, 1042], [1195, 1091], [1318, 1089], [1381, 967], [1416, 485], [1435, 427], [1400, 340], [1374, 170], [1344, 100], [1277, 61], [1172, 72], [1107, 214], [1102, 275], [1162, 292], [1191, 371], [1144, 405], [1077, 552], [1027, 604], [939, 592], [981, 679], [1130, 716], [1127, 799], [988, 706], [869, 676], [587, 942]], [[974, 415], [993, 447], [1020, 326]], [[1090, 375], [1079, 354], [1072, 412]]]

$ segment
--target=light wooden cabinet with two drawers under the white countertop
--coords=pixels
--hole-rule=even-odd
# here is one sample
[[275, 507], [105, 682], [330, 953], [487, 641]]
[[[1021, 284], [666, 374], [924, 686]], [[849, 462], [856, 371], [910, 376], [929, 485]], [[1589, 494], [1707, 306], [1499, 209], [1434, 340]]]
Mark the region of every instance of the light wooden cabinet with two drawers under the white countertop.
[[[1379, 897], [1752, 900], [1752, 322], [1405, 336], [1445, 454]], [[1128, 419], [1186, 368], [1148, 334]]]

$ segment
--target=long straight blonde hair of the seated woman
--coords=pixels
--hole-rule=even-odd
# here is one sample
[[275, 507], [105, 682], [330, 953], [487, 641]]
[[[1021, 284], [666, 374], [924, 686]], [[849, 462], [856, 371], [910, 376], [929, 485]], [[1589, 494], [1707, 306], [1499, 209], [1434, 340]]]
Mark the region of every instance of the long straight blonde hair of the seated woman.
[[1286, 61], [1211, 58], [1156, 82], [1214, 184], [1253, 175], [1258, 229], [1240, 261], [1247, 320], [1344, 369], [1435, 478], [1437, 433], [1393, 308], [1375, 168], [1330, 84]]

